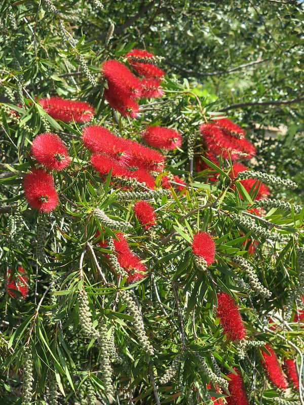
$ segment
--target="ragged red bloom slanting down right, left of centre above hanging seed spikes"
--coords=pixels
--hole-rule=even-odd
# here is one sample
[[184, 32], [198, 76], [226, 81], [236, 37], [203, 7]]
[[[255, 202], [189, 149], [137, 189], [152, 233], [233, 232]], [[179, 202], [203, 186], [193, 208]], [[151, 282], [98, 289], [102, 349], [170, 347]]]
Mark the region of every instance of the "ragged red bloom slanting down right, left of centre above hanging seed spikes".
[[[96, 237], [100, 235], [99, 231], [96, 232]], [[128, 241], [122, 232], [116, 233], [116, 238], [113, 238], [113, 244], [117, 259], [120, 266], [128, 273], [127, 281], [129, 284], [139, 281], [146, 277], [146, 266], [141, 262], [140, 258], [135, 255], [128, 244]], [[106, 248], [105, 242], [99, 242], [99, 246]]]

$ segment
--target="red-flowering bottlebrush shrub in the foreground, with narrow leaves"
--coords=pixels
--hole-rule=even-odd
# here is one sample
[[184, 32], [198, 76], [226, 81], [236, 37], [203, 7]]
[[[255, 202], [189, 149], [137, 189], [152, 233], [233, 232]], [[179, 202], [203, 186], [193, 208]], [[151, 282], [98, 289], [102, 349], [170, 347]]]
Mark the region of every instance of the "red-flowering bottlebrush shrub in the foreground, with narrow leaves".
[[[24, 7], [11, 9], [22, 16]], [[26, 32], [30, 26], [40, 39], [37, 55], [45, 55], [40, 46], [49, 43], [42, 41], [49, 31], [40, 30], [41, 20], [52, 13], [27, 18]], [[114, 51], [109, 43], [84, 65], [98, 83], [92, 87], [78, 66], [86, 62], [83, 53], [90, 58], [88, 45], [77, 42], [71, 51], [62, 45], [78, 32], [67, 18], [56, 14], [66, 32], [49, 52], [50, 77], [35, 60], [37, 76], [30, 67], [24, 72], [26, 96], [39, 89], [46, 100], [57, 90], [67, 100], [63, 107], [57, 100], [48, 115], [35, 95], [24, 107], [17, 100], [0, 104], [6, 151], [0, 164], [0, 398], [26, 399], [26, 405], [71, 405], [87, 397], [93, 403], [94, 396], [107, 405], [185, 405], [191, 397], [202, 403], [199, 398], [221, 395], [218, 403], [243, 405], [250, 397], [254, 405], [270, 405], [281, 393], [258, 361], [259, 346], [272, 342], [279, 359], [292, 358], [302, 370], [301, 330], [292, 316], [303, 310], [301, 209], [282, 210], [275, 187], [257, 191], [254, 179], [235, 178], [237, 165], [258, 151], [242, 122], [239, 127], [216, 113], [220, 100], [207, 104], [208, 97], [194, 97], [191, 84], [189, 90], [174, 77], [162, 82], [162, 100], [139, 96], [150, 80], [143, 76], [160, 69], [156, 57], [134, 52], [116, 60], [115, 52], [132, 51]], [[29, 50], [30, 44], [32, 37]], [[57, 44], [64, 46], [60, 52]], [[29, 52], [20, 54], [28, 58]], [[16, 69], [11, 73], [14, 80]], [[96, 115], [87, 106], [74, 109], [69, 99], [75, 94]], [[13, 108], [18, 116], [10, 114]], [[52, 115], [55, 110], [61, 115]], [[92, 123], [75, 113], [87, 123], [90, 115]], [[64, 122], [68, 114], [73, 125]], [[146, 146], [147, 127], [161, 128], [157, 144]], [[196, 157], [207, 157], [206, 166], [195, 166]], [[249, 211], [263, 205], [261, 216]], [[14, 271], [20, 267], [24, 273]], [[18, 277], [26, 277], [26, 299]], [[265, 326], [268, 317], [277, 322], [274, 330]], [[240, 374], [231, 374], [234, 368]], [[297, 401], [299, 393], [286, 391], [286, 398]]]

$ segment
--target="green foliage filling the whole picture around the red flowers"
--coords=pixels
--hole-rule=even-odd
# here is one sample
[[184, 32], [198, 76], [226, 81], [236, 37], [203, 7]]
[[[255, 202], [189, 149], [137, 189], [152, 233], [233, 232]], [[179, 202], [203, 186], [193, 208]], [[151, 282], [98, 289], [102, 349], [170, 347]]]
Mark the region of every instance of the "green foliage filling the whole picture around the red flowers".
[[[207, 384], [217, 378], [222, 391], [214, 395], [224, 397], [223, 378], [236, 367], [250, 404], [303, 405], [303, 329], [293, 322], [304, 287], [303, 18], [297, 2], [279, 3], [1, 4], [1, 403], [91, 404], [97, 397], [102, 404], [209, 404], [216, 387], [208, 391]], [[132, 48], [163, 57], [159, 65], [166, 71], [164, 97], [141, 101], [137, 119], [109, 107], [100, 73], [105, 60], [127, 63]], [[256, 63], [229, 71], [249, 62]], [[155, 227], [145, 231], [135, 218], [136, 195], [126, 197], [110, 175], [101, 181], [90, 165], [81, 140], [86, 125], [56, 121], [37, 103], [56, 95], [89, 102], [95, 109], [90, 125], [122, 138], [141, 142], [150, 124], [181, 133], [183, 143], [166, 153], [162, 175], [179, 176], [186, 188], [178, 191], [172, 183], [164, 191], [157, 174], [154, 192], [140, 197], [156, 210]], [[270, 103], [258, 104], [263, 101]], [[253, 105], [232, 106], [246, 102]], [[271, 198], [290, 203], [287, 208], [265, 208], [262, 217], [249, 213], [258, 206], [255, 192], [232, 180], [230, 159], [219, 159], [219, 168], [209, 162], [219, 173], [216, 183], [208, 170], [192, 173], [189, 138], [195, 155], [204, 156], [199, 126], [227, 106], [257, 148], [247, 165], [298, 184], [289, 190], [277, 179], [270, 186]], [[279, 125], [286, 135], [264, 137], [268, 126]], [[72, 158], [54, 174], [60, 204], [49, 214], [30, 208], [22, 187], [37, 167], [31, 143], [43, 132], [59, 135]], [[107, 225], [96, 208], [110, 218]], [[134, 284], [112, 271], [110, 246], [98, 245], [116, 231], [125, 231], [148, 269]], [[215, 263], [204, 271], [191, 249], [199, 231], [216, 246]], [[28, 277], [26, 299], [7, 291], [19, 266]], [[224, 336], [218, 292], [236, 300], [246, 344]], [[280, 363], [296, 360], [300, 392], [282, 392], [268, 381], [261, 362], [265, 342]]]

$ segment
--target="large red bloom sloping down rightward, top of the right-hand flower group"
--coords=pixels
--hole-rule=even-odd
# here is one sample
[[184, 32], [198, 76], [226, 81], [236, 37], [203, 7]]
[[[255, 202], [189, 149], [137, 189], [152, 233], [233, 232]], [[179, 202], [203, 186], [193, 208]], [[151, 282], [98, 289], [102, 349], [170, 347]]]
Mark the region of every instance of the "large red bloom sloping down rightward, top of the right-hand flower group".
[[255, 148], [249, 141], [245, 138], [236, 139], [218, 128], [216, 124], [202, 124], [200, 131], [209, 151], [214, 155], [227, 158], [230, 153], [232, 159], [238, 157], [250, 159], [255, 155]]

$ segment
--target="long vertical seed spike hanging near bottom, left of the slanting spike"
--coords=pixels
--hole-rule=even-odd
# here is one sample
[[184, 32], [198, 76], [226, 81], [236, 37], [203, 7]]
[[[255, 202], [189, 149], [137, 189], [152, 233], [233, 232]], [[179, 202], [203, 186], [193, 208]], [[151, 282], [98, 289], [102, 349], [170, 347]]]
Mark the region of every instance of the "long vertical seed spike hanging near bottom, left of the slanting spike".
[[105, 321], [100, 323], [98, 333], [99, 336], [97, 337], [97, 342], [100, 348], [100, 364], [104, 390], [107, 395], [113, 395], [112, 369], [110, 362], [111, 345], [107, 338]]

